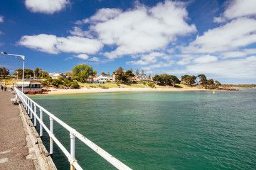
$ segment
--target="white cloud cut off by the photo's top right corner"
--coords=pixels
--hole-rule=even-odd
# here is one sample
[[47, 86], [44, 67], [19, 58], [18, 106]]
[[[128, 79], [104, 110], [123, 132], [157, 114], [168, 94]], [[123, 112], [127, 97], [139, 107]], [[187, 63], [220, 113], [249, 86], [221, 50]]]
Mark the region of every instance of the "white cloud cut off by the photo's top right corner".
[[228, 8], [224, 11], [223, 15], [214, 18], [217, 23], [225, 22], [227, 19], [239, 18], [242, 16], [255, 16], [256, 15], [256, 1], [255, 0], [233, 0], [230, 1]]

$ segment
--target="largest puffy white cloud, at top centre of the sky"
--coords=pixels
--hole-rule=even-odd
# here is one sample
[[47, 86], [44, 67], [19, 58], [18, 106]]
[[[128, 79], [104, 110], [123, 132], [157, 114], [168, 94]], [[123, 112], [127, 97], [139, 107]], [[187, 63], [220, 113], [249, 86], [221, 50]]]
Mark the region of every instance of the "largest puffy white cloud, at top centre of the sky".
[[196, 32], [196, 26], [186, 23], [187, 18], [184, 3], [165, 1], [152, 8], [139, 4], [124, 12], [104, 8], [82, 22], [92, 23], [90, 32], [96, 33], [105, 45], [117, 45], [112, 52], [105, 53], [106, 57], [114, 59], [161, 50], [176, 41], [178, 35]]

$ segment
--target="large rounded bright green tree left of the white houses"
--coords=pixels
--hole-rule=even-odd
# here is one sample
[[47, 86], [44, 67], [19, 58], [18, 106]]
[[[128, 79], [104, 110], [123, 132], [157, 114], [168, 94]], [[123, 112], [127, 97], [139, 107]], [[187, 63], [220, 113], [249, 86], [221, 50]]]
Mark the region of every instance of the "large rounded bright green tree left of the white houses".
[[85, 64], [75, 66], [72, 69], [72, 72], [73, 72], [73, 78], [82, 83], [85, 83], [85, 81], [87, 81], [87, 79], [90, 76], [93, 77], [94, 75], [97, 74], [97, 71], [93, 71], [92, 67], [89, 67]]

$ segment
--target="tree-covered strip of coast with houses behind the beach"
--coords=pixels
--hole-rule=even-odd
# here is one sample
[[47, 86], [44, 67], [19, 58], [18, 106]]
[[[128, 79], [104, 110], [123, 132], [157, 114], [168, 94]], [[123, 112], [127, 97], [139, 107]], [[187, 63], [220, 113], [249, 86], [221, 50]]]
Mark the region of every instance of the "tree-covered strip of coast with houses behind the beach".
[[[144, 74], [139, 74], [139, 69], [136, 69], [136, 74], [132, 69], [124, 70], [119, 67], [110, 75], [102, 72], [102, 77], [112, 77], [103, 81], [104, 84], [91, 84], [89, 83], [97, 76], [97, 71], [92, 67], [85, 64], [80, 64], [73, 67], [72, 72], [67, 71], [60, 73], [60, 77], [52, 78], [48, 72], [41, 68], [24, 69], [24, 77], [26, 79], [38, 79], [41, 81], [44, 88], [53, 87], [56, 89], [80, 89], [81, 87], [90, 88], [197, 88], [197, 89], [220, 89], [226, 90], [231, 88], [256, 88], [255, 84], [221, 84], [220, 81], [214, 79], [207, 79], [205, 74], [181, 76], [181, 79], [171, 74], [156, 74], [154, 77], [149, 77]], [[0, 67], [0, 79], [4, 79], [6, 85], [12, 86], [16, 82], [16, 78], [21, 81], [23, 69], [16, 69], [13, 75], [9, 74], [9, 70], [5, 67]], [[140, 78], [138, 80], [138, 77]], [[13, 81], [12, 81], [13, 79]]]

